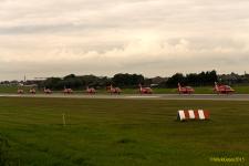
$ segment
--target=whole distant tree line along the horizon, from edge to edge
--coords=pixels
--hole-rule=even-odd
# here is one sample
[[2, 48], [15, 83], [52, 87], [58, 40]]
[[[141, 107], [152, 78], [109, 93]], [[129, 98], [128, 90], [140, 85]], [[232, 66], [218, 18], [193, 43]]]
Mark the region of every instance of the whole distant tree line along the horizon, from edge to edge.
[[23, 81], [2, 81], [0, 85], [38, 85], [39, 89], [48, 87], [52, 90], [62, 90], [64, 87], [71, 89], [85, 89], [86, 86], [103, 89], [111, 84], [114, 86], [124, 87], [137, 87], [141, 83], [145, 86], [157, 87], [177, 87], [177, 83], [190, 86], [206, 86], [214, 85], [214, 82], [224, 84], [249, 84], [249, 74], [239, 75], [236, 73], [217, 75], [217, 72], [207, 71], [200, 73], [181, 74], [176, 73], [169, 77], [145, 77], [142, 74], [128, 74], [118, 73], [113, 77], [95, 76], [95, 75], [74, 75], [70, 74], [64, 77], [49, 77], [45, 81], [42, 80], [28, 80]]

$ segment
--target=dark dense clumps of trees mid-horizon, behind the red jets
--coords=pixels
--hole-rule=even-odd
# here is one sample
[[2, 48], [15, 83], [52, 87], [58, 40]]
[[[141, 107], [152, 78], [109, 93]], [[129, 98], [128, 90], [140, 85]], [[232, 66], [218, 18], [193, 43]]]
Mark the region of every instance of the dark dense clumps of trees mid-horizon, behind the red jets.
[[118, 73], [113, 77], [107, 76], [95, 76], [95, 75], [83, 75], [76, 76], [74, 74], [66, 75], [64, 77], [49, 77], [45, 81], [39, 83], [39, 87], [49, 87], [52, 90], [61, 90], [64, 87], [71, 89], [85, 89], [86, 86], [103, 89], [113, 84], [120, 87], [137, 87], [138, 84], [146, 86], [158, 86], [158, 87], [176, 87], [177, 83], [183, 85], [191, 86], [204, 86], [214, 85], [214, 82], [218, 81], [216, 71], [208, 71], [201, 73], [181, 74], [176, 73], [170, 77], [153, 77], [146, 79], [142, 74], [128, 74]]

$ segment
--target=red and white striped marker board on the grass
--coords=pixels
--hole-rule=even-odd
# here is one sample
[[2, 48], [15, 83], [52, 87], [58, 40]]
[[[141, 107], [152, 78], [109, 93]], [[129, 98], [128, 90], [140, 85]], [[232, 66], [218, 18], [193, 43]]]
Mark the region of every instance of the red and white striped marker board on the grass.
[[178, 111], [177, 118], [179, 121], [187, 121], [187, 120], [209, 120], [210, 115], [208, 111], [204, 110], [188, 110], [188, 111]]

